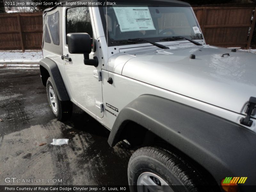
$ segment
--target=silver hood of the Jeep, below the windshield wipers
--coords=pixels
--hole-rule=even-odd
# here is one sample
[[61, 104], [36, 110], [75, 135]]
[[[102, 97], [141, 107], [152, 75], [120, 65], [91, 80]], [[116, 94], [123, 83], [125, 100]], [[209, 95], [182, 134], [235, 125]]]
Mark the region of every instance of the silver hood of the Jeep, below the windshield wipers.
[[[222, 54], [229, 53], [230, 56]], [[256, 54], [214, 46], [126, 51], [122, 75], [244, 114], [256, 97]], [[195, 54], [196, 59], [189, 56]]]

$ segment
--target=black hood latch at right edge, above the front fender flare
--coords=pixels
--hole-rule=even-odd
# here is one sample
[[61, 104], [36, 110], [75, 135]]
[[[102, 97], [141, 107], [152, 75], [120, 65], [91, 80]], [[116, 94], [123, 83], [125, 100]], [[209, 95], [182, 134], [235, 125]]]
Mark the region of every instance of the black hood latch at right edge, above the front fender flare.
[[240, 123], [248, 127], [251, 127], [252, 120], [250, 118], [256, 113], [256, 97], [250, 97], [249, 101], [247, 101], [246, 103], [244, 113], [246, 113], [247, 115], [245, 116], [245, 118], [242, 117], [240, 119]]

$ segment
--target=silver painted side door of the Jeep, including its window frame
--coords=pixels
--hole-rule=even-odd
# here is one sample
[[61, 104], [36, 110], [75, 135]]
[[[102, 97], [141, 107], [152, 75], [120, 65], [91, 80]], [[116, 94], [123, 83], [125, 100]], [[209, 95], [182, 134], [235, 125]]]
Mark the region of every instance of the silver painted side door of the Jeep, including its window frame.
[[[63, 8], [64, 14], [67, 7]], [[92, 15], [92, 9], [89, 8], [90, 15]], [[94, 27], [93, 17], [91, 17], [92, 29], [95, 38], [97, 39], [97, 31]], [[65, 28], [66, 23], [63, 22], [62, 26]], [[66, 44], [66, 30], [64, 30], [62, 37], [63, 41], [63, 54], [69, 55], [71, 61], [63, 61], [65, 68], [65, 81], [68, 85], [69, 94], [77, 102], [80, 108], [86, 110], [90, 115], [102, 118], [104, 113], [98, 107], [98, 103], [102, 103], [102, 83], [94, 77], [94, 70], [101, 70], [101, 55], [99, 49], [96, 52], [91, 52], [89, 58], [92, 59], [97, 56], [99, 60], [98, 67], [84, 65], [83, 54], [71, 54], [68, 52], [68, 46]], [[95, 41], [98, 48], [98, 41]]]

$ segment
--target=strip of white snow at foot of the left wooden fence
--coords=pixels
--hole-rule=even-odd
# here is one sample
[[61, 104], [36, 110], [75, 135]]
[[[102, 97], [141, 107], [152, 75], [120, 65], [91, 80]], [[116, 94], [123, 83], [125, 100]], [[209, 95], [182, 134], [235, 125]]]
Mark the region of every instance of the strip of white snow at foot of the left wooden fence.
[[15, 51], [0, 51], [0, 62], [39, 62], [43, 59], [43, 52], [41, 50], [27, 50], [22, 52]]

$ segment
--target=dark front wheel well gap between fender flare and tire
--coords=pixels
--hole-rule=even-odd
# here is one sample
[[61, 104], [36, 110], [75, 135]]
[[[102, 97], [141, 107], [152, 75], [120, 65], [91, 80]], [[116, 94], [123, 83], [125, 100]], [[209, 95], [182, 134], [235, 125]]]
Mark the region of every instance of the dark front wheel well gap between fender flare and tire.
[[184, 154], [178, 148], [167, 143], [165, 140], [158, 137], [155, 133], [151, 132], [140, 124], [132, 121], [127, 122], [124, 125], [123, 130], [120, 134], [120, 140], [127, 140], [130, 143], [131, 148], [133, 148], [134, 150], [144, 146], [158, 146], [166, 150], [170, 150], [174, 154], [177, 154], [177, 156], [180, 156], [182, 159], [188, 161], [189, 164], [199, 170], [201, 174], [207, 178], [208, 182], [211, 185], [219, 186], [211, 173], [208, 172], [201, 164], [197, 163], [195, 160]]

